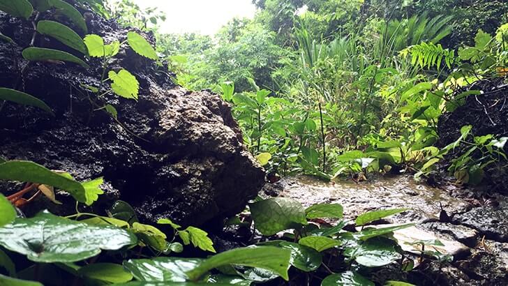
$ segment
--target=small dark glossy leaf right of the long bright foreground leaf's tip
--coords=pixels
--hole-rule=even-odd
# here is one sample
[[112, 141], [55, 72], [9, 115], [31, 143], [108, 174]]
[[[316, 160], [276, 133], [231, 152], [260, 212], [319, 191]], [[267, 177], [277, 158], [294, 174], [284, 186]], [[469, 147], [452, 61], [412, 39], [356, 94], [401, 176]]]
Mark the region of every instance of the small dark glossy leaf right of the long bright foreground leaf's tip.
[[313, 248], [287, 241], [281, 242], [280, 246], [291, 250], [290, 264], [301, 271], [311, 272], [321, 266], [323, 257]]

